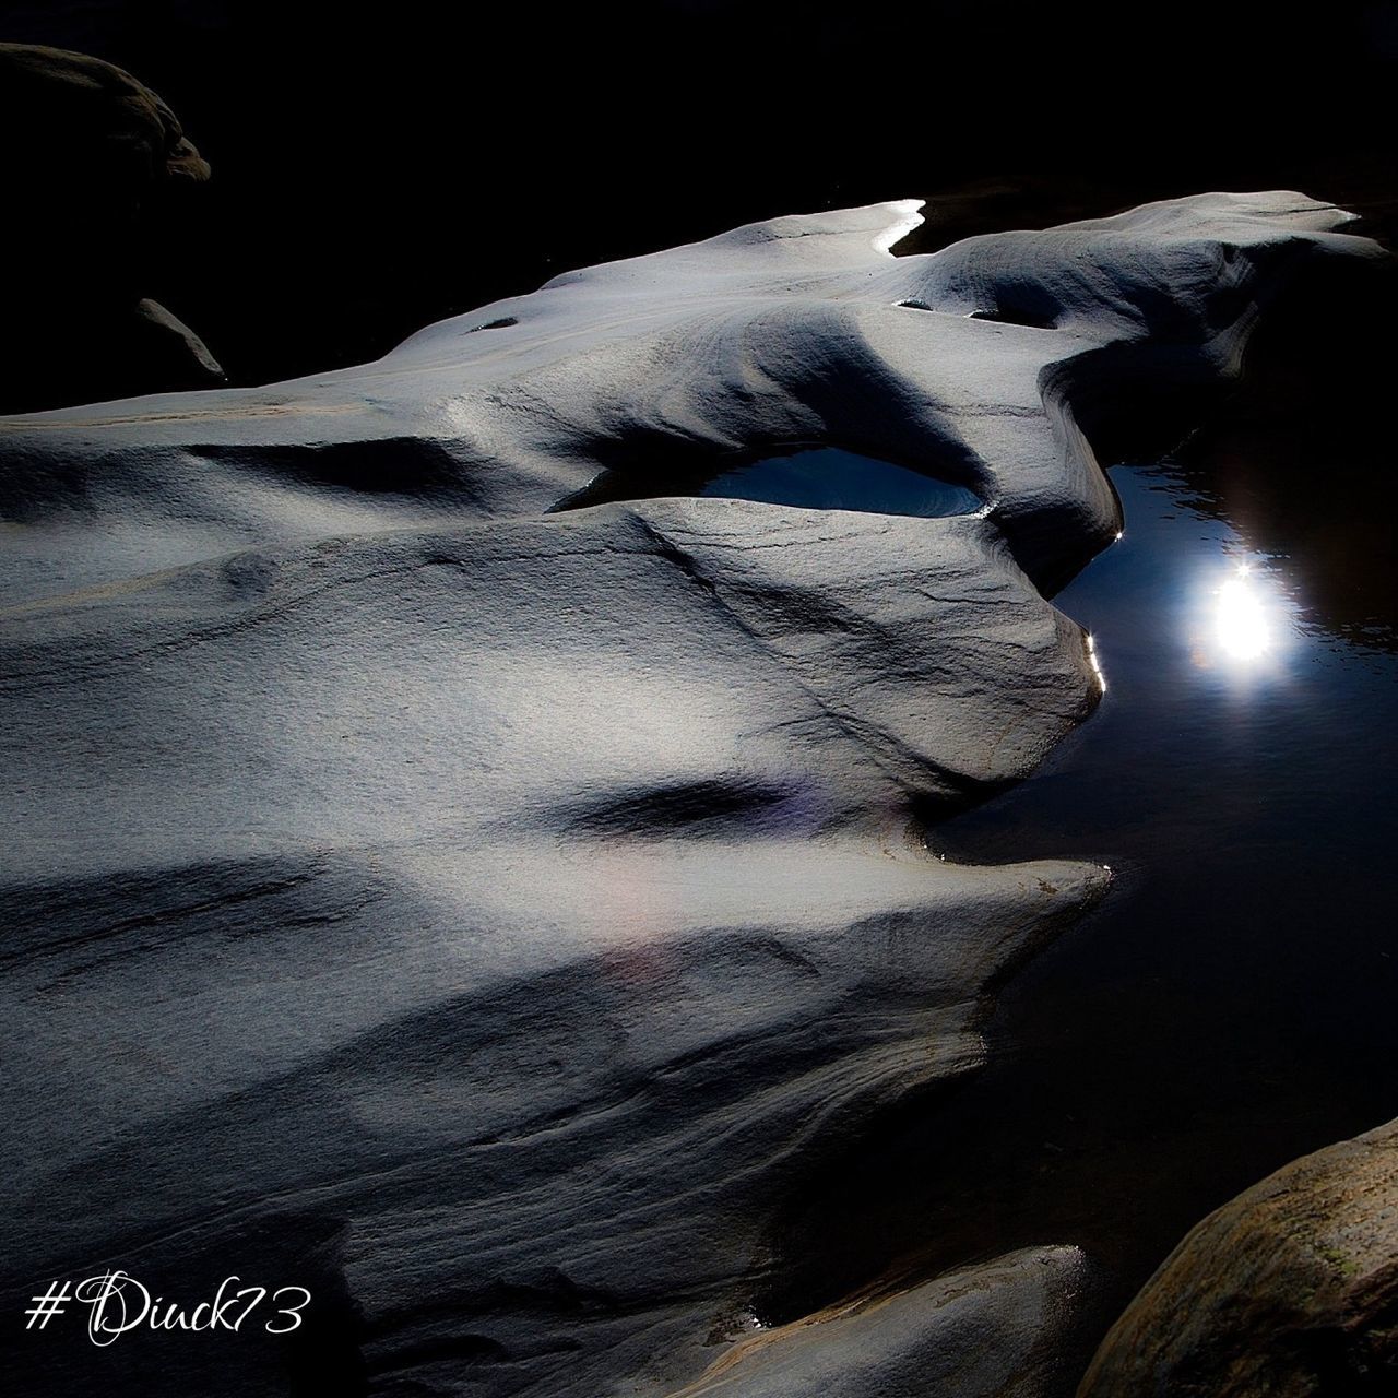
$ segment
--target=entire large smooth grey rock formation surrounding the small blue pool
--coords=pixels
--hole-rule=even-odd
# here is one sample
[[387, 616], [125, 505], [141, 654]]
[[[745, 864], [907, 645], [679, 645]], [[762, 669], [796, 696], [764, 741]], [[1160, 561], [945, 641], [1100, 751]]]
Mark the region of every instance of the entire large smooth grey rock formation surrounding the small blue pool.
[[[1118, 524], [1079, 408], [1232, 372], [1285, 275], [1370, 254], [1343, 217], [1205, 196], [906, 260], [911, 204], [777, 219], [354, 370], [6, 422], [7, 1296], [116, 1264], [319, 1307], [284, 1346], [27, 1335], [31, 1388], [712, 1377], [783, 1192], [972, 1072], [987, 987], [1106, 888], [921, 839], [1100, 692], [1036, 586]], [[698, 495], [815, 446], [983, 507]], [[997, 1264], [1014, 1334], [938, 1391], [1037, 1391], [1076, 1265]], [[959, 1296], [724, 1391], [924, 1392]]]

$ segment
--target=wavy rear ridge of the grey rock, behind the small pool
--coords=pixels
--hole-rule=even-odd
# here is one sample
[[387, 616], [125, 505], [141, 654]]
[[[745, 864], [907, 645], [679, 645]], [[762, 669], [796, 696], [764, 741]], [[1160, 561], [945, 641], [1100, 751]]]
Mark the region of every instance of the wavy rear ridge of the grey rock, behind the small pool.
[[14, 419], [0, 513], [31, 526], [39, 576], [11, 573], [7, 591], [442, 512], [540, 513], [603, 471], [654, 495], [811, 443], [972, 487], [1021, 566], [1062, 580], [1120, 523], [1079, 417], [1130, 419], [1144, 390], [1236, 372], [1289, 280], [1380, 256], [1332, 232], [1348, 214], [1272, 193], [895, 259], [917, 207], [781, 218], [568, 273], [355, 369]]

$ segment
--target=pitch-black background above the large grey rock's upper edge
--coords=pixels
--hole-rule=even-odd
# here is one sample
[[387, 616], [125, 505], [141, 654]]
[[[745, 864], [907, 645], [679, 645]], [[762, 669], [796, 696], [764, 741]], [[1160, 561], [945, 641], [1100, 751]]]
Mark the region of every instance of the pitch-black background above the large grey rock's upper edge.
[[[243, 383], [773, 214], [967, 186], [1001, 189], [1001, 226], [1205, 187], [1392, 193], [1394, 4], [94, 0], [0, 6], [0, 38], [96, 55], [179, 113], [214, 175], [143, 275]], [[925, 238], [981, 231], [962, 222]]]

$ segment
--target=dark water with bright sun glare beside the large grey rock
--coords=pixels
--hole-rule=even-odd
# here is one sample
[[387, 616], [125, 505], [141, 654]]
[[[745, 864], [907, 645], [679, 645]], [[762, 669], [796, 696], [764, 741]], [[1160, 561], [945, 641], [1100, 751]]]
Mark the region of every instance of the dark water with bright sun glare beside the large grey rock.
[[1199, 459], [1111, 474], [1125, 534], [1055, 598], [1095, 636], [1103, 703], [931, 844], [1092, 858], [1114, 889], [1007, 988], [970, 1090], [910, 1110], [793, 1205], [774, 1317], [889, 1255], [931, 1271], [1072, 1241], [1103, 1264], [1106, 1325], [1204, 1213], [1398, 1116], [1388, 579], [1335, 591], [1314, 478], [1282, 556], [1283, 507], [1244, 534], [1225, 517], [1237, 478], [1211, 484]]

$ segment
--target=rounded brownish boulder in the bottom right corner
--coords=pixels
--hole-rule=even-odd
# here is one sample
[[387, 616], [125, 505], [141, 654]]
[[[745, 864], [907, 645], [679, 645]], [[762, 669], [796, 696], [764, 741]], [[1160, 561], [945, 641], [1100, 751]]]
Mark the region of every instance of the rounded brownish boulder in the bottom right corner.
[[1199, 1223], [1079, 1398], [1345, 1398], [1398, 1387], [1398, 1123], [1295, 1160]]

